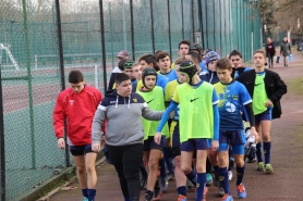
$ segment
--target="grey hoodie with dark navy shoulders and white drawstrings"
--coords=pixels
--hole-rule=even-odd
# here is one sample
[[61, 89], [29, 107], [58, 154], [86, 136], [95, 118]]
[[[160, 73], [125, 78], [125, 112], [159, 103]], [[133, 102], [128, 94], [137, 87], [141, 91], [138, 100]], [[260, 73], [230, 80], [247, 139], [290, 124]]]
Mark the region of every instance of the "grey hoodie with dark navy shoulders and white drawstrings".
[[142, 116], [149, 121], [161, 120], [163, 112], [154, 112], [144, 99], [132, 92], [121, 97], [117, 90], [108, 91], [100, 102], [92, 126], [92, 143], [100, 142], [100, 128], [105, 121], [106, 142], [109, 146], [143, 143]]

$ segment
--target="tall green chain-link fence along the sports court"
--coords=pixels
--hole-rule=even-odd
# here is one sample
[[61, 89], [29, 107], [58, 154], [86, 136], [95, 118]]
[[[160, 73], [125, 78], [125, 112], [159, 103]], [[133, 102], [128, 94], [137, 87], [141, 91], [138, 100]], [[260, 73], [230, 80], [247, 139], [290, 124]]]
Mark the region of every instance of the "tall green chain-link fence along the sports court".
[[239, 49], [249, 60], [262, 39], [255, 2], [0, 0], [1, 200], [16, 200], [73, 163], [57, 148], [52, 128], [71, 70], [104, 92], [121, 50], [133, 59], [165, 50], [174, 60], [179, 41], [187, 39], [223, 56]]

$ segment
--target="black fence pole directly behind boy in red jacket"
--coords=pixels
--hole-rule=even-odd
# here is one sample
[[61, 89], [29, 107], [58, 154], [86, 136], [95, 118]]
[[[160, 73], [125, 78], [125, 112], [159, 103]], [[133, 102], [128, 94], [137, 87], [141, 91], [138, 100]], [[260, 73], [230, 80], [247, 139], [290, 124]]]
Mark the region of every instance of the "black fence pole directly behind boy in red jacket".
[[[62, 29], [61, 29], [61, 14], [60, 14], [60, 3], [59, 0], [56, 0], [56, 16], [57, 16], [57, 35], [58, 35], [58, 53], [59, 53], [59, 70], [60, 70], [60, 80], [62, 91], [65, 89], [65, 76], [64, 76], [64, 58], [63, 58], [63, 42], [62, 42]], [[66, 121], [64, 124], [64, 140], [66, 143]], [[69, 149], [65, 149], [65, 164], [71, 166], [70, 163], [70, 152]]]

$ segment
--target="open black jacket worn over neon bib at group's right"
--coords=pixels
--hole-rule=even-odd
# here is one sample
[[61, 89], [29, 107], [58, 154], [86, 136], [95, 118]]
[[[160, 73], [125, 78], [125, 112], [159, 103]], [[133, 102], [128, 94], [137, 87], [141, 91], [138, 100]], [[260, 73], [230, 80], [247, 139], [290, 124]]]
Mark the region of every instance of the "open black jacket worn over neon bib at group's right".
[[[265, 70], [266, 74], [264, 77], [265, 90], [269, 100], [274, 103], [272, 118], [279, 118], [282, 114], [280, 99], [287, 93], [288, 89], [284, 81], [281, 80], [280, 76], [271, 71]], [[250, 92], [254, 101], [254, 88], [255, 88], [256, 72], [249, 71], [243, 73], [238, 80], [242, 83], [247, 91]]]

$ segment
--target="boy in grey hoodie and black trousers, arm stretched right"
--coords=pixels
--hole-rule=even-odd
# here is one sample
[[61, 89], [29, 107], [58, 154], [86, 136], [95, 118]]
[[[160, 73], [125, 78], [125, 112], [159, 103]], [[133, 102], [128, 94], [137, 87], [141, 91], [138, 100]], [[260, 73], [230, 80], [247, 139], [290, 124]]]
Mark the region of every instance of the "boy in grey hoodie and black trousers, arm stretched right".
[[138, 201], [144, 139], [142, 116], [159, 121], [163, 112], [153, 111], [140, 95], [132, 92], [131, 79], [126, 74], [117, 74], [114, 83], [116, 89], [106, 92], [95, 113], [92, 149], [100, 151], [101, 125], [107, 121], [106, 143], [110, 161], [118, 172], [124, 201]]

